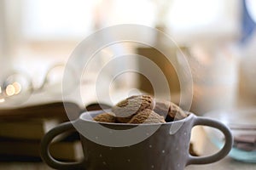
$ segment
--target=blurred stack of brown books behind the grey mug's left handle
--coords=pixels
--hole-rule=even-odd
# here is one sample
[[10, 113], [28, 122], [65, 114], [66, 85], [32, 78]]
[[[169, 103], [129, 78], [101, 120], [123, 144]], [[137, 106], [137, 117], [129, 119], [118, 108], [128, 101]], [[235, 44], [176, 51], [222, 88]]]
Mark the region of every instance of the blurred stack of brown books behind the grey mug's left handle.
[[[78, 117], [79, 105], [54, 102], [42, 105], [0, 109], [0, 161], [40, 161], [40, 141], [61, 122], [67, 122], [66, 110]], [[59, 135], [49, 151], [57, 160], [75, 161], [82, 156], [79, 134]]]

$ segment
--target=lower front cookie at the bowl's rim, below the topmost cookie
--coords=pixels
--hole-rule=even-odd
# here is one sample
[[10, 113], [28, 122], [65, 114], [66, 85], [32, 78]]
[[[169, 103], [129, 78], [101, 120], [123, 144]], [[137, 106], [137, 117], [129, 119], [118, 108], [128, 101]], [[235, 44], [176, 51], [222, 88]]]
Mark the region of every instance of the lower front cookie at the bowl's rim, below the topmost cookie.
[[163, 123], [166, 122], [163, 116], [155, 113], [152, 110], [146, 109], [138, 112], [135, 116], [131, 117], [128, 123]]

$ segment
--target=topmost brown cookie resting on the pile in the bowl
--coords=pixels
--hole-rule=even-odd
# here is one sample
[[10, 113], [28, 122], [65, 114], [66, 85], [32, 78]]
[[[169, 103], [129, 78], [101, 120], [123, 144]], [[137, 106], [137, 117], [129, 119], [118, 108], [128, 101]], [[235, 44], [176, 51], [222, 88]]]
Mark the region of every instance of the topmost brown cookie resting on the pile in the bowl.
[[154, 99], [150, 95], [135, 95], [120, 101], [112, 107], [118, 122], [129, 122], [131, 117], [145, 109], [154, 109]]

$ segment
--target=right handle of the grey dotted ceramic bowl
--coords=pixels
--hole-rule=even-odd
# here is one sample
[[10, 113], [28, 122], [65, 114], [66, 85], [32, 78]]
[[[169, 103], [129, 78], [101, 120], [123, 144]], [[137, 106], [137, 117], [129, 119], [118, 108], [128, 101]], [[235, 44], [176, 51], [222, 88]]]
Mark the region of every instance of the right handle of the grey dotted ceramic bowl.
[[224, 133], [225, 144], [221, 150], [219, 150], [216, 154], [213, 154], [212, 156], [191, 156], [191, 155], [189, 155], [187, 165], [212, 163], [214, 161], [221, 160], [222, 158], [224, 158], [224, 156], [227, 156], [229, 154], [229, 152], [232, 148], [232, 145], [233, 145], [233, 136], [230, 132], [229, 127], [226, 127], [222, 122], [218, 122], [218, 121], [208, 119], [205, 117], [195, 116], [193, 127], [197, 126], [197, 125], [218, 128], [222, 133]]

